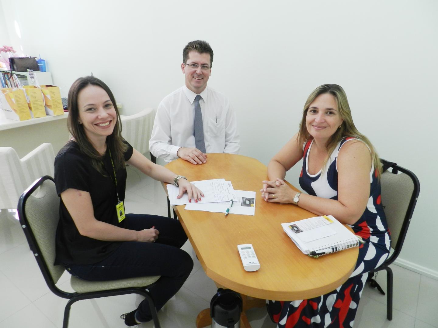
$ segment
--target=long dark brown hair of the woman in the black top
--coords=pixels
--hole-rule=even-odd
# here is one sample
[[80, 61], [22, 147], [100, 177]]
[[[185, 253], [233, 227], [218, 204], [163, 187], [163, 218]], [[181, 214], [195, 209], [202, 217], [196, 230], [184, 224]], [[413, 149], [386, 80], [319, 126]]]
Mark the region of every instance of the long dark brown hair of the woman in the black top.
[[102, 168], [102, 156], [93, 147], [90, 140], [88, 140], [85, 134], [84, 126], [79, 124], [79, 109], [78, 109], [78, 94], [88, 85], [96, 85], [101, 87], [109, 96], [109, 99], [113, 103], [113, 106], [117, 113], [117, 121], [114, 126], [113, 133], [106, 137], [106, 147], [111, 150], [111, 156], [113, 157], [114, 166], [116, 169], [125, 167], [124, 153], [127, 150], [127, 145], [124, 143], [124, 139], [121, 136], [122, 124], [120, 123], [119, 109], [117, 108], [116, 99], [113, 96], [109, 87], [96, 77], [79, 77], [71, 85], [68, 91], [68, 120], [67, 127], [70, 134], [74, 137], [74, 140], [79, 145], [81, 153], [88, 156], [91, 159], [92, 166], [99, 171], [102, 175], [106, 175], [106, 172]]

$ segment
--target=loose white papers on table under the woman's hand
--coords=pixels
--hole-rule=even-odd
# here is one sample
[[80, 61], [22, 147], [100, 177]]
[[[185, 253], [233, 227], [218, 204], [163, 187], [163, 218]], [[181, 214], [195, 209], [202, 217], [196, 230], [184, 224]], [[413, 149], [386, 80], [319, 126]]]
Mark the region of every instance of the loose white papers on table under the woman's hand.
[[225, 179], [192, 181], [191, 183], [198, 187], [205, 197], [198, 202], [194, 202], [194, 199], [189, 202], [187, 193], [185, 193], [183, 197], [177, 199], [179, 188], [167, 185], [171, 205], [187, 204], [185, 209], [225, 213], [230, 200], [233, 200], [229, 214], [254, 215], [255, 213], [255, 192], [234, 190], [231, 181], [225, 181]]

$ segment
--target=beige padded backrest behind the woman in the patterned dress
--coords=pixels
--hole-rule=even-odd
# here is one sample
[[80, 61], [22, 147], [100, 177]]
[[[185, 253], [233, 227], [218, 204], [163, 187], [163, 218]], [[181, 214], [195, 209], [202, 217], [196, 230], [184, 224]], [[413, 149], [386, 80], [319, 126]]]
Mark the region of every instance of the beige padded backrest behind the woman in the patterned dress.
[[390, 264], [401, 251], [420, 193], [420, 182], [411, 171], [384, 159], [380, 161], [384, 168], [392, 168], [381, 175], [381, 202], [394, 249], [393, 254], [385, 261], [386, 264]]

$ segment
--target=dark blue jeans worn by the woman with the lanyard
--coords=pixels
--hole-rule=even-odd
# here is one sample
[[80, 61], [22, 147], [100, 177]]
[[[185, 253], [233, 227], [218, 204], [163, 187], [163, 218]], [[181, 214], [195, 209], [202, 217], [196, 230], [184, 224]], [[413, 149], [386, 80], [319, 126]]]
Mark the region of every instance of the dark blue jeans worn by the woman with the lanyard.
[[[142, 276], [161, 276], [149, 288], [157, 311], [183, 286], [193, 269], [193, 261], [180, 247], [187, 236], [180, 221], [168, 217], [145, 214], [127, 214], [126, 228], [159, 230], [155, 243], [124, 241], [104, 260], [88, 265], [66, 264], [74, 276], [90, 281], [105, 281]], [[146, 300], [137, 308], [138, 319], [149, 321], [151, 312]]]

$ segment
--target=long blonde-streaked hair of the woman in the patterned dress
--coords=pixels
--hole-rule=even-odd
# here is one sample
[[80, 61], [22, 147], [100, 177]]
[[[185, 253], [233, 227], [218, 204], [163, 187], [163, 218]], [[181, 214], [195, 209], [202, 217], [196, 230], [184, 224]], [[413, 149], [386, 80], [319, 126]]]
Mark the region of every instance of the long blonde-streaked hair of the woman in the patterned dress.
[[317, 87], [307, 98], [306, 103], [304, 104], [303, 109], [303, 117], [300, 122], [300, 130], [298, 131], [297, 142], [299, 145], [303, 145], [307, 140], [312, 139], [312, 136], [307, 131], [306, 126], [306, 116], [307, 110], [309, 109], [311, 103], [321, 94], [331, 94], [335, 99], [338, 105], [338, 112], [343, 119], [342, 125], [340, 128], [336, 130], [335, 133], [330, 137], [329, 142], [326, 145], [328, 155], [324, 160], [322, 167], [324, 167], [325, 163], [330, 158], [330, 154], [332, 154], [333, 150], [335, 150], [336, 145], [345, 137], [353, 137], [362, 140], [370, 150], [371, 160], [373, 162], [374, 168], [377, 170], [378, 176], [381, 174], [381, 164], [380, 159], [377, 155], [376, 150], [374, 149], [372, 143], [366, 136], [357, 131], [356, 126], [354, 126], [353, 118], [351, 117], [350, 105], [348, 104], [347, 95], [345, 94], [344, 89], [338, 84], [323, 84]]

